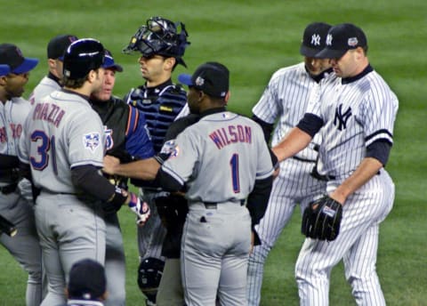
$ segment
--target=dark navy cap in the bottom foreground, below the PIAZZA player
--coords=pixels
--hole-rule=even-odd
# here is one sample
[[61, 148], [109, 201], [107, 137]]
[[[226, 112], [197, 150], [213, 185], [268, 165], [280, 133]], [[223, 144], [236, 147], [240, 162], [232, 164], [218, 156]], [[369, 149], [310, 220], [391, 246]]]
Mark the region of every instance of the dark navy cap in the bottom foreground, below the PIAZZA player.
[[99, 300], [106, 287], [107, 278], [100, 262], [84, 259], [71, 267], [67, 287], [70, 299]]

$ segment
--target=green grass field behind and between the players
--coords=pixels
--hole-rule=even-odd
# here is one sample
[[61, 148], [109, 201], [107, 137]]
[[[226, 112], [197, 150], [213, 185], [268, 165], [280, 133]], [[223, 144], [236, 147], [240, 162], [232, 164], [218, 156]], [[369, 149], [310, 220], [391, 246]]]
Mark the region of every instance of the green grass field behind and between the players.
[[[95, 37], [109, 48], [125, 72], [117, 75], [116, 94], [141, 85], [138, 56], [121, 53], [136, 29], [149, 17], [181, 20], [191, 45], [189, 69], [176, 69], [173, 80], [207, 60], [226, 64], [231, 73], [229, 109], [246, 115], [258, 101], [276, 69], [299, 62], [302, 30], [312, 21], [353, 22], [363, 28], [369, 59], [399, 96], [395, 145], [387, 170], [396, 183], [396, 200], [381, 227], [378, 273], [389, 305], [426, 305], [427, 213], [427, 2], [421, 0], [131, 0], [6, 1], [0, 41], [20, 46], [27, 57], [41, 60], [32, 72], [25, 97], [47, 72], [46, 44], [52, 36], [71, 33]], [[424, 119], [423, 119], [424, 118]], [[0, 204], [1, 205], [1, 204]], [[127, 255], [127, 304], [142, 305], [136, 285], [138, 263], [133, 215], [120, 213]], [[302, 244], [300, 216], [294, 214], [270, 253], [262, 286], [262, 306], [297, 305], [294, 262]], [[24, 305], [26, 274], [0, 247], [0, 305]], [[342, 265], [333, 270], [331, 305], [354, 304]]]

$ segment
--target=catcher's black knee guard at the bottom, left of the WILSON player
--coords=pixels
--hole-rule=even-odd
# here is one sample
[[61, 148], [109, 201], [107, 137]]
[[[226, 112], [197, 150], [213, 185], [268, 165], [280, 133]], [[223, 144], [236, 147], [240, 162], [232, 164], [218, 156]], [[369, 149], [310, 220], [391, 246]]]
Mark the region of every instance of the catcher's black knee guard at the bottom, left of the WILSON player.
[[150, 302], [156, 302], [157, 288], [164, 267], [165, 262], [154, 257], [143, 259], [138, 267], [138, 286]]

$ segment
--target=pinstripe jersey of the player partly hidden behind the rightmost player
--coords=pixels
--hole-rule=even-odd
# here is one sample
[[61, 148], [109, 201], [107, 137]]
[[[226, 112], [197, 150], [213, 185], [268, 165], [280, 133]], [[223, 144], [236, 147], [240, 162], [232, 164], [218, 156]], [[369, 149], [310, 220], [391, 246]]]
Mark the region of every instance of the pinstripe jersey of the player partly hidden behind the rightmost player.
[[[307, 110], [310, 89], [316, 84], [303, 62], [278, 69], [271, 76], [269, 85], [252, 111], [256, 117], [269, 124], [274, 124], [279, 117], [271, 139], [272, 146], [278, 144], [303, 117]], [[310, 146], [295, 156], [315, 161], [318, 153], [313, 147], [319, 143], [320, 136], [316, 135]]]

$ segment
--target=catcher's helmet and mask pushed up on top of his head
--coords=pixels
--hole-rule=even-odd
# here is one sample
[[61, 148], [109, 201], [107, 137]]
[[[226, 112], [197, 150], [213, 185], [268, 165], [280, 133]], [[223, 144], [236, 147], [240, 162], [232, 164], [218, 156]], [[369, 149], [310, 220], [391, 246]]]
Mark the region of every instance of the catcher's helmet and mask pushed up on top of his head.
[[146, 25], [138, 28], [123, 52], [139, 51], [144, 57], [155, 54], [174, 57], [178, 63], [187, 67], [181, 58], [189, 45], [187, 36], [189, 35], [182, 22], [173, 23], [162, 17], [151, 17]]

